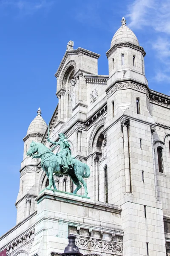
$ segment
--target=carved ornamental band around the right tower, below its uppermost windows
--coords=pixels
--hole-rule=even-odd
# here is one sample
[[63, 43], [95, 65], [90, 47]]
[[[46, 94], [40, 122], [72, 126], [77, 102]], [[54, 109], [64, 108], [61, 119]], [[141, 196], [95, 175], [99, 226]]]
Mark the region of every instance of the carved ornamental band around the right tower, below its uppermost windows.
[[134, 90], [140, 91], [142, 93], [146, 93], [148, 98], [149, 98], [149, 93], [146, 90], [145, 87], [138, 85], [138, 84], [133, 84], [131, 82], [125, 83], [125, 84], [115, 84], [111, 90], [109, 90], [107, 92], [107, 96], [110, 97], [114, 92], [116, 92], [116, 90], [122, 90], [122, 89], [128, 89], [128, 88], [132, 88]]

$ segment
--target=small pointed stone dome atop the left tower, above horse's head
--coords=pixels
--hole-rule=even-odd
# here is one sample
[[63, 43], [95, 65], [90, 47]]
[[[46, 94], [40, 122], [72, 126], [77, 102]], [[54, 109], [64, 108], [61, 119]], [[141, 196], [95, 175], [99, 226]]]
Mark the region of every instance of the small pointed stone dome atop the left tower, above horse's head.
[[44, 134], [47, 128], [47, 124], [41, 116], [41, 109], [39, 108], [37, 111], [37, 116], [32, 120], [31, 124], [28, 127], [27, 135], [28, 134], [35, 134], [40, 133]]

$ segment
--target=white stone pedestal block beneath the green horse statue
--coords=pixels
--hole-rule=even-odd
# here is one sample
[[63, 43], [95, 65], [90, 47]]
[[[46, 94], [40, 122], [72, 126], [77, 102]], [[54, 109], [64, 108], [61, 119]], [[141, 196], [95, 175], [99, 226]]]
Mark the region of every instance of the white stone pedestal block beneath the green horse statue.
[[122, 254], [121, 208], [53, 189], [35, 199], [37, 217], [30, 256], [62, 253], [68, 234], [77, 236], [80, 252]]

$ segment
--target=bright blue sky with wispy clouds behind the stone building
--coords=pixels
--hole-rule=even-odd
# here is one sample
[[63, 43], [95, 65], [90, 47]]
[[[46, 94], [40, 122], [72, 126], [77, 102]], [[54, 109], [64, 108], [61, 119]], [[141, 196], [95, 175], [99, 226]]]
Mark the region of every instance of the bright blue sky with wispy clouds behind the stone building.
[[122, 16], [144, 47], [149, 87], [170, 95], [169, 0], [0, 0], [1, 148], [0, 236], [16, 224], [23, 137], [42, 109], [48, 123], [57, 106], [55, 72], [69, 40], [101, 54]]

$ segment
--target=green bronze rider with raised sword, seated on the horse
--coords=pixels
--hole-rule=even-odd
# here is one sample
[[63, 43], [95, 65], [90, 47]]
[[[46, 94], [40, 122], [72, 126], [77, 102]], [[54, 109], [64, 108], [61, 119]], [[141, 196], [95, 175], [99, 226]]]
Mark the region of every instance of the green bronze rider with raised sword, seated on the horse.
[[68, 140], [65, 138], [63, 133], [58, 134], [59, 135], [59, 141], [51, 141], [49, 138], [47, 138], [48, 142], [54, 144], [54, 145], [60, 145], [60, 151], [58, 154], [56, 154], [59, 157], [59, 165], [63, 165], [63, 169], [69, 169], [68, 165], [73, 166], [73, 160], [71, 157], [71, 149], [70, 144], [68, 143]]

